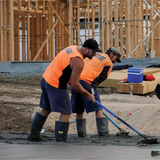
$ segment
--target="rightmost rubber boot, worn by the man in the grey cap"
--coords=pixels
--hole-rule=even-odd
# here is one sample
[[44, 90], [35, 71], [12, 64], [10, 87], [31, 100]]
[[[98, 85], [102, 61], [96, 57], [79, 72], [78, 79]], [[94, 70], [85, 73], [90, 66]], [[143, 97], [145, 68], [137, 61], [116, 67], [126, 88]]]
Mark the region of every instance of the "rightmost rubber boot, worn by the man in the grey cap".
[[108, 118], [96, 118], [97, 130], [100, 136], [107, 136], [109, 134]]

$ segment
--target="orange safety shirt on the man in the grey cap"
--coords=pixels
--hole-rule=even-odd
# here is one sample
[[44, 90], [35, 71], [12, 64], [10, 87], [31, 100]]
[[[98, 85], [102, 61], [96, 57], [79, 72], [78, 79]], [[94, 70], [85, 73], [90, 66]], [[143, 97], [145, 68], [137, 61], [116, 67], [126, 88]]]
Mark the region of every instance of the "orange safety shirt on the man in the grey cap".
[[[112, 67], [112, 61], [107, 54], [97, 53], [96, 56], [94, 56], [91, 60], [85, 58], [84, 68], [81, 73], [80, 79], [89, 84], [92, 84], [94, 80], [99, 77], [99, 83], [101, 83], [109, 76]], [[101, 77], [104, 74], [105, 76]]]

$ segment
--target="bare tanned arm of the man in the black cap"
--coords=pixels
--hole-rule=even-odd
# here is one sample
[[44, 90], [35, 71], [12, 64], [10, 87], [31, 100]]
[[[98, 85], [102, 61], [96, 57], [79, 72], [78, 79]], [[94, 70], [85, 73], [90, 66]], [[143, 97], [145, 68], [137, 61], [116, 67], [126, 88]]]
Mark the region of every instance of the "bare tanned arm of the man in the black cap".
[[88, 101], [94, 102], [94, 96], [86, 91], [79, 83], [79, 78], [84, 66], [83, 60], [79, 57], [74, 57], [70, 61], [70, 66], [72, 69], [71, 87], [79, 94], [84, 95]]

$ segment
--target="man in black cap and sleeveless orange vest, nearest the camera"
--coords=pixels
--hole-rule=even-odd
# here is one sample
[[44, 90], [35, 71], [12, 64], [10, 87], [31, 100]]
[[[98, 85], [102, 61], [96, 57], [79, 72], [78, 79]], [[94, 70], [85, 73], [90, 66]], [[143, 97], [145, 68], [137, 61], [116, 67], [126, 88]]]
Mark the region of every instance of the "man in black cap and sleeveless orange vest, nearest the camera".
[[40, 131], [48, 115], [51, 112], [59, 112], [59, 121], [55, 122], [56, 141], [66, 141], [72, 112], [67, 83], [71, 79], [72, 88], [88, 101], [94, 102], [94, 96], [80, 85], [79, 77], [84, 67], [84, 59], [92, 59], [96, 52], [101, 50], [96, 40], [91, 38], [86, 40], [82, 47], [73, 45], [63, 49], [47, 67], [41, 79], [41, 111], [35, 114], [28, 140], [41, 141]]

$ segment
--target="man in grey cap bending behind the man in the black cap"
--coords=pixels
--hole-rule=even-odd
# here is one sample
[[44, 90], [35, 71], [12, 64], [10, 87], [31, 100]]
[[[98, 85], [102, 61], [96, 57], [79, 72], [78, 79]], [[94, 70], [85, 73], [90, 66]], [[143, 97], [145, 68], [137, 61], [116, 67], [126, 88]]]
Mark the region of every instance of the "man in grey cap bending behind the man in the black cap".
[[[103, 82], [110, 74], [113, 63], [120, 63], [121, 54], [115, 47], [109, 48], [106, 53], [97, 53], [92, 60], [85, 59], [84, 69], [80, 76], [79, 83], [88, 92], [94, 91], [94, 96], [100, 102], [97, 86]], [[84, 110], [87, 113], [95, 112], [98, 134], [106, 136], [109, 134], [108, 119], [104, 117], [102, 108], [95, 103], [89, 102], [83, 95], [77, 93], [71, 87], [72, 112], [76, 113], [76, 126], [79, 137], [86, 136], [86, 119], [83, 118]]]

